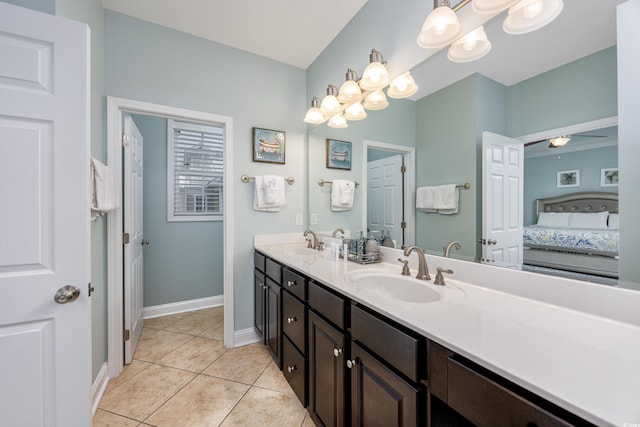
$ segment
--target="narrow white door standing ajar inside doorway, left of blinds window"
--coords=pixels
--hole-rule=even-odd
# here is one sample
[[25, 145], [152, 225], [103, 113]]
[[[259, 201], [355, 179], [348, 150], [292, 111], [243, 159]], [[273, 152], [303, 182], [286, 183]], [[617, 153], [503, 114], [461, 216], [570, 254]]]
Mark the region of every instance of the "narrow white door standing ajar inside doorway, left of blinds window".
[[[124, 116], [124, 231], [129, 243], [124, 245], [124, 363], [131, 363], [142, 326], [143, 310], [143, 221], [142, 177], [144, 141], [130, 115]], [[126, 337], [125, 337], [126, 338]]]

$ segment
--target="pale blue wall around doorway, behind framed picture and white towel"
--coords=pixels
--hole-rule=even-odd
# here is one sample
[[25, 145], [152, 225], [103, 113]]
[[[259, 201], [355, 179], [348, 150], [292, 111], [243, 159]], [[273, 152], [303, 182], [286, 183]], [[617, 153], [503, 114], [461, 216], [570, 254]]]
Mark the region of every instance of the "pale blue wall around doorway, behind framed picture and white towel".
[[[253, 235], [302, 232], [295, 214], [305, 211], [305, 90], [305, 72], [298, 68], [105, 11], [107, 95], [233, 118], [234, 252], [228, 255], [236, 330], [253, 324]], [[285, 165], [252, 162], [254, 126], [286, 132]], [[278, 213], [253, 211], [253, 186], [240, 181], [243, 173], [295, 178], [295, 185], [286, 186], [286, 206]], [[174, 248], [176, 254], [181, 250]]]

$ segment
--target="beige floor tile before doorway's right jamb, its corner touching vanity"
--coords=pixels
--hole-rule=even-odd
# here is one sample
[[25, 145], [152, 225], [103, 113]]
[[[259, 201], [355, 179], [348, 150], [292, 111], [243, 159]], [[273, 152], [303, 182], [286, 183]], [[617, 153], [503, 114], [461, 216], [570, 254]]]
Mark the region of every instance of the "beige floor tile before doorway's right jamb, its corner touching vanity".
[[253, 384], [271, 362], [264, 347], [244, 346], [231, 348], [204, 370], [204, 374]]

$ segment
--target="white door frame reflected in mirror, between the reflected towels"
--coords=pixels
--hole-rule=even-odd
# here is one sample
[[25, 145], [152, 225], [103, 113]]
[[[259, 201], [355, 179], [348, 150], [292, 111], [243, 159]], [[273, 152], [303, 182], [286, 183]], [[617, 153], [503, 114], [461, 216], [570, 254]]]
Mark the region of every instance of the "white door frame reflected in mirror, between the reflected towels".
[[[415, 201], [415, 187], [416, 187], [416, 149], [415, 147], [408, 147], [405, 145], [389, 144], [388, 142], [379, 142], [365, 139], [362, 144], [362, 158], [367, 160], [367, 150], [369, 148], [375, 148], [377, 150], [392, 151], [397, 154], [403, 154], [405, 156], [405, 167], [407, 172], [405, 173], [405, 198], [404, 198], [404, 220], [407, 223], [405, 228], [405, 246], [413, 245], [416, 241], [416, 211], [414, 209]], [[364, 165], [362, 168], [362, 193], [368, 197], [367, 191], [367, 167]], [[367, 203], [362, 204], [362, 224], [364, 229], [367, 229]]]

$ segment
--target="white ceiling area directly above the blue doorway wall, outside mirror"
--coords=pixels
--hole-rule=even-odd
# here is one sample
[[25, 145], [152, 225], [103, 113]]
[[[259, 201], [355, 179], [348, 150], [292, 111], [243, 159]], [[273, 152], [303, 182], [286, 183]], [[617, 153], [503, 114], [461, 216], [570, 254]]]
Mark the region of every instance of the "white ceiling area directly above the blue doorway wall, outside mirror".
[[367, 0], [102, 0], [105, 9], [307, 69]]

